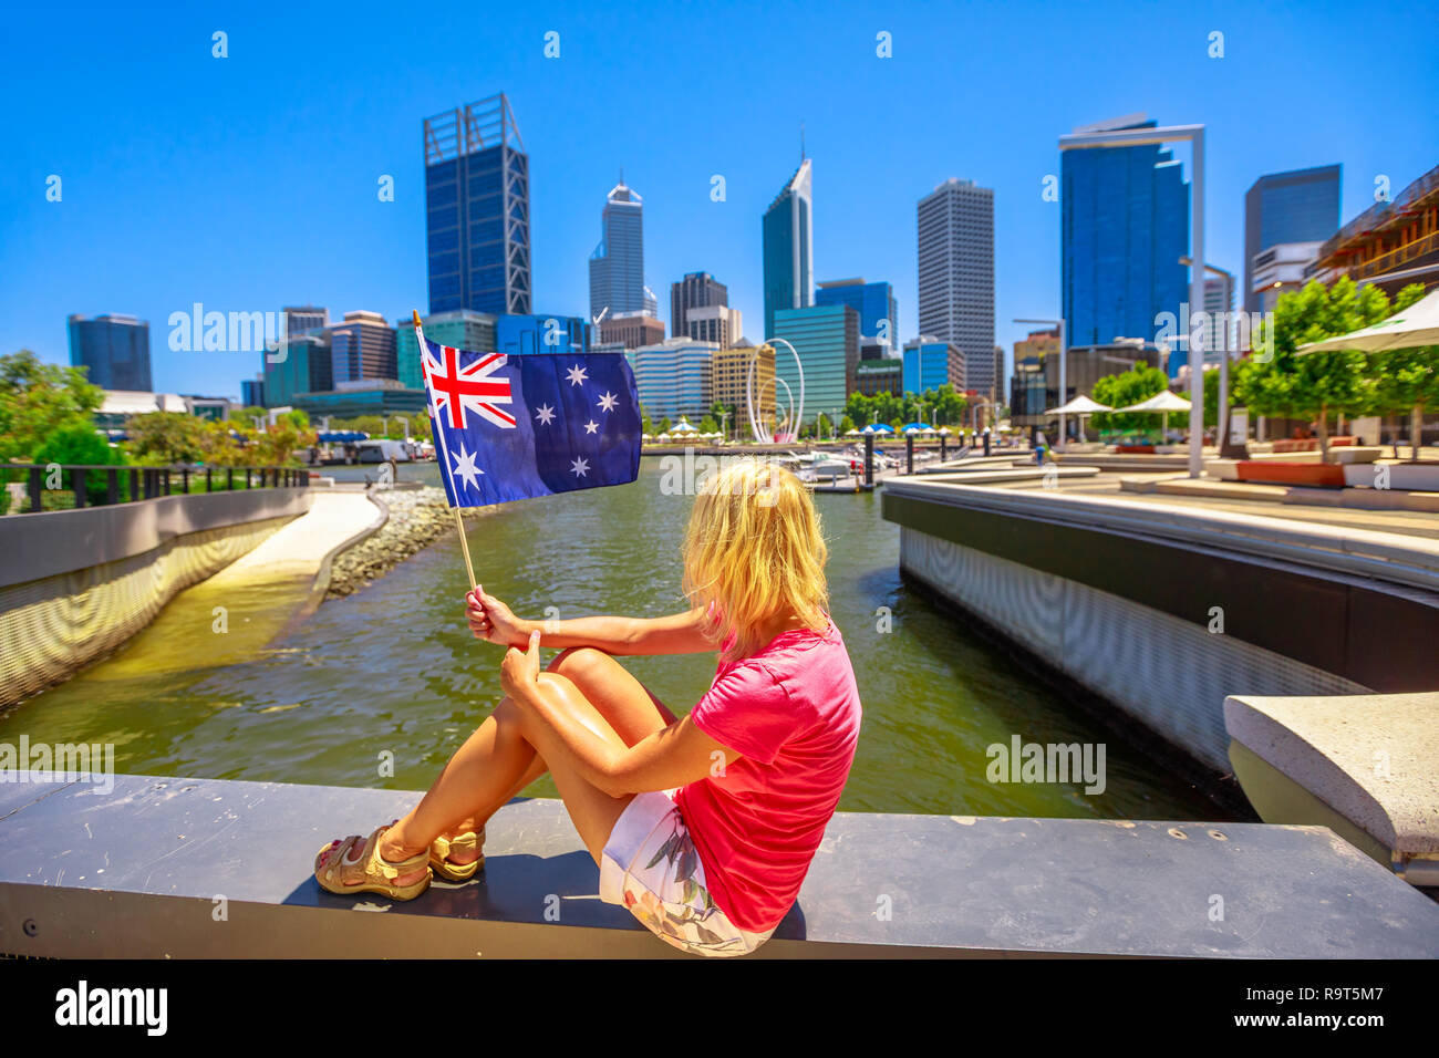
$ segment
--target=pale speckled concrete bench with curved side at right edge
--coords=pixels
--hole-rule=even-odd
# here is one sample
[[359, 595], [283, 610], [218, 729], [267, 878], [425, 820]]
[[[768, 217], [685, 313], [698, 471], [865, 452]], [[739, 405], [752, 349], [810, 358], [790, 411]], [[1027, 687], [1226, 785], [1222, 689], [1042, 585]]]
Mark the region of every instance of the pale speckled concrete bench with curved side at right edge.
[[1439, 694], [1225, 700], [1229, 759], [1272, 823], [1312, 823], [1439, 885]]

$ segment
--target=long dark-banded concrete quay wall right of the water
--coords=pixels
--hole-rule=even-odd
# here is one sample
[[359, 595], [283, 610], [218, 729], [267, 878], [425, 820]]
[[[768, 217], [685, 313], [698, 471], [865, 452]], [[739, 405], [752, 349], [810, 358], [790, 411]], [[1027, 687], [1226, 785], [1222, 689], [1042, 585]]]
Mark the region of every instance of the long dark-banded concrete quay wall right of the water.
[[[1226, 695], [1433, 689], [1439, 547], [1111, 495], [886, 482], [901, 571], [1197, 761]], [[1203, 774], [1196, 776], [1203, 777]]]

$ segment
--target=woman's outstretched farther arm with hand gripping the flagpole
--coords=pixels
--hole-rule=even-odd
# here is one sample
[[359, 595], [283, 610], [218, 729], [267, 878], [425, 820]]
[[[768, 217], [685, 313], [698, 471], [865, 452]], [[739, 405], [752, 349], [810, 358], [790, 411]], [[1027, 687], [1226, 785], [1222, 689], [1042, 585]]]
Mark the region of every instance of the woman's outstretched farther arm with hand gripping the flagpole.
[[668, 618], [571, 618], [568, 620], [527, 620], [517, 618], [505, 603], [484, 587], [465, 596], [465, 618], [476, 639], [501, 646], [524, 648], [531, 632], [540, 632], [541, 645], [594, 646], [606, 654], [702, 654], [717, 649], [701, 630], [702, 610], [673, 613]]

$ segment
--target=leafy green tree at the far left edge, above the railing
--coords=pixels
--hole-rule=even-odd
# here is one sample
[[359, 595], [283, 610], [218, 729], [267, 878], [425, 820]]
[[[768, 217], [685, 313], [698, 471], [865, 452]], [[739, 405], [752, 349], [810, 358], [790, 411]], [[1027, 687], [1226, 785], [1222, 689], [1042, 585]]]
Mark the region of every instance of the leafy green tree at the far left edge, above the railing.
[[62, 426], [94, 428], [105, 400], [86, 369], [43, 363], [27, 348], [0, 357], [0, 462], [32, 459]]

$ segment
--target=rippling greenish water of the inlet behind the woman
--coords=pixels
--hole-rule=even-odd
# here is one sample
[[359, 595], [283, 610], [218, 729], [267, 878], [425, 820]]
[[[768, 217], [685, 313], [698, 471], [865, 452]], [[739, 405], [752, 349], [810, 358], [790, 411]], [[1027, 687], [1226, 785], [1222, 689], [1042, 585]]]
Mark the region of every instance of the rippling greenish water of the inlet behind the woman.
[[[478, 523], [469, 543], [481, 583], [535, 618], [547, 607], [560, 618], [684, 609], [678, 547], [691, 499], [661, 494], [656, 464], [646, 459], [633, 485], [527, 499]], [[433, 482], [435, 468], [403, 466], [401, 478]], [[816, 502], [835, 623], [865, 705], [842, 809], [1225, 818], [901, 584], [899, 533], [881, 520], [878, 495]], [[0, 740], [111, 741], [117, 767], [132, 773], [423, 789], [499, 697], [501, 651], [471, 638], [466, 587], [459, 547], [442, 537], [266, 648], [232, 651], [216, 642], [224, 636], [210, 630], [210, 607], [232, 607], [229, 635], [243, 636], [246, 616], [263, 620], [266, 599], [217, 602], [200, 584], [112, 659], [0, 718]], [[879, 607], [892, 613], [889, 632], [878, 630]], [[625, 664], [676, 713], [714, 674], [709, 655]], [[1104, 793], [987, 782], [986, 749], [1016, 734], [1107, 743]], [[528, 793], [554, 787], [544, 779]]]

